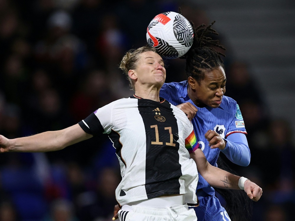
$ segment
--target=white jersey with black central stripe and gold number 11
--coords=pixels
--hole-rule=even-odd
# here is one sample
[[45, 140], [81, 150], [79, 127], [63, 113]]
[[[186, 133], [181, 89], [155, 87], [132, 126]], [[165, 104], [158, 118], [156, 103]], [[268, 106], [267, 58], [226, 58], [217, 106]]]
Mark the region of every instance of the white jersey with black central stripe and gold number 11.
[[187, 203], [197, 203], [198, 171], [185, 148], [185, 139], [195, 134], [179, 108], [133, 95], [99, 108], [79, 125], [94, 136], [107, 133], [113, 142], [121, 168], [116, 189], [121, 206], [164, 194], [185, 194]]

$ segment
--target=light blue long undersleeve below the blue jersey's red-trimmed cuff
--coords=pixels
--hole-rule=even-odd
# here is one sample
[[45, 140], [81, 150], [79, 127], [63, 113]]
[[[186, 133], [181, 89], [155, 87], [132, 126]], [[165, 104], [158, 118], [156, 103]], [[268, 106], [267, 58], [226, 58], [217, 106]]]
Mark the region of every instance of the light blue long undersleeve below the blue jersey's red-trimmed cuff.
[[224, 140], [226, 140], [226, 146], [221, 152], [234, 164], [248, 166], [251, 154], [246, 135], [243, 133], [232, 133]]

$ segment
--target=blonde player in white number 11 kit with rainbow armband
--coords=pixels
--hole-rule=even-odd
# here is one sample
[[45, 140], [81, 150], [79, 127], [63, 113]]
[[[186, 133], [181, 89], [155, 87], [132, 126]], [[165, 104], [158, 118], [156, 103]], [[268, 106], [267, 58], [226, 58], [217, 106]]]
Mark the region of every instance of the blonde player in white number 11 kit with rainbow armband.
[[153, 48], [126, 53], [120, 67], [135, 90], [130, 98], [116, 100], [91, 113], [74, 126], [59, 131], [7, 139], [0, 136], [0, 151], [56, 151], [107, 133], [113, 141], [122, 181], [116, 199], [120, 220], [197, 220], [188, 205], [198, 204], [198, 171], [211, 185], [244, 189], [257, 201], [262, 189], [243, 177], [211, 166], [179, 108], [159, 98], [166, 70]]

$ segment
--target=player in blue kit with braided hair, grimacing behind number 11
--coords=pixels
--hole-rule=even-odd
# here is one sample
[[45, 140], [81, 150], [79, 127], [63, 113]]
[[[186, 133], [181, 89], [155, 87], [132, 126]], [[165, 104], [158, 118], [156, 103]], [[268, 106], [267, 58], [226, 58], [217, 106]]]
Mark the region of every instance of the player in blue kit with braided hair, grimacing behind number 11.
[[[208, 36], [218, 34], [211, 28], [212, 24], [208, 27], [200, 25], [195, 29], [193, 46], [185, 55], [188, 80], [165, 83], [160, 97], [187, 114], [211, 165], [217, 166], [221, 151], [233, 163], [248, 166], [251, 155], [245, 136], [247, 132], [239, 105], [232, 98], [224, 96], [226, 75], [220, 57], [223, 54], [213, 47], [225, 48]], [[214, 189], [201, 175], [196, 193], [200, 200], [199, 207], [195, 208], [198, 220], [231, 220], [215, 196]], [[240, 214], [237, 220], [245, 219], [246, 215]], [[239, 215], [233, 214], [232, 218], [234, 216]]]

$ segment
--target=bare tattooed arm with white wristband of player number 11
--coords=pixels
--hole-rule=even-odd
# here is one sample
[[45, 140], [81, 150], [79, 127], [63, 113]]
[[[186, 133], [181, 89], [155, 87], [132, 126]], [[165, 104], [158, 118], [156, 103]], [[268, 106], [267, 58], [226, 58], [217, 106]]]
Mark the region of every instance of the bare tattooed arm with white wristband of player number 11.
[[248, 197], [253, 201], [260, 199], [262, 189], [257, 184], [219, 169], [216, 166], [212, 166], [207, 161], [201, 149], [195, 150], [194, 153], [190, 154], [190, 157], [196, 162], [198, 172], [211, 186], [228, 189], [244, 189]]

